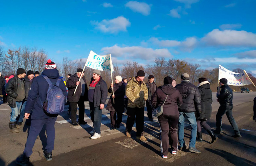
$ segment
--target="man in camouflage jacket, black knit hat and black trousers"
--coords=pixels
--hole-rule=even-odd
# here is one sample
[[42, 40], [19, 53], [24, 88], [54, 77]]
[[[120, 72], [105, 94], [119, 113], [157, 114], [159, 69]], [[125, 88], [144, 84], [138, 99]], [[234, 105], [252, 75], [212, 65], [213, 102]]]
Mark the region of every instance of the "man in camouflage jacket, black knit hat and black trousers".
[[[137, 75], [126, 85], [125, 94], [128, 98], [126, 136], [131, 137], [131, 131], [136, 122], [136, 139], [146, 141], [143, 136], [144, 128], [144, 106], [148, 98], [148, 89], [143, 81], [145, 79], [144, 71], [140, 70]], [[135, 119], [136, 116], [136, 119]]]

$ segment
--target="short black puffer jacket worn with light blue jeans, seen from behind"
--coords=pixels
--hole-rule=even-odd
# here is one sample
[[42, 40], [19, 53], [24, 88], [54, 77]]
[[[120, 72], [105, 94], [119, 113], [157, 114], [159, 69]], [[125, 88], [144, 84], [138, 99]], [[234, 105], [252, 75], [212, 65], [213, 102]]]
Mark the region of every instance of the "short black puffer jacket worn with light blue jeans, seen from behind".
[[183, 104], [179, 107], [179, 112], [201, 112], [201, 99], [198, 88], [190, 81], [184, 80], [175, 86], [182, 95]]

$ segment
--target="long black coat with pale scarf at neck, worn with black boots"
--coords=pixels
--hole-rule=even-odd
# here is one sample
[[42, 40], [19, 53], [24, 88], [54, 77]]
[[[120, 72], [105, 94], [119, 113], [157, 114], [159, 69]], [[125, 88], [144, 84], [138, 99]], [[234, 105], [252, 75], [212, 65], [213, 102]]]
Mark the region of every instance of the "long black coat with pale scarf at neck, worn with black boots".
[[197, 119], [209, 120], [212, 114], [212, 91], [210, 89], [210, 83], [203, 81], [198, 85], [198, 90], [201, 95], [201, 113]]

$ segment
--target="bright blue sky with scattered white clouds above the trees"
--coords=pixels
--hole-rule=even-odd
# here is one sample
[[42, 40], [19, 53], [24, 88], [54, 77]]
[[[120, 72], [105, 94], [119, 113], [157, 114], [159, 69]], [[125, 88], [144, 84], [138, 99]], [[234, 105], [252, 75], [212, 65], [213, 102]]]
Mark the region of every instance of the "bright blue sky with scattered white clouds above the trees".
[[255, 0], [0, 0], [0, 45], [52, 61], [111, 53], [113, 64], [186, 60], [256, 76]]

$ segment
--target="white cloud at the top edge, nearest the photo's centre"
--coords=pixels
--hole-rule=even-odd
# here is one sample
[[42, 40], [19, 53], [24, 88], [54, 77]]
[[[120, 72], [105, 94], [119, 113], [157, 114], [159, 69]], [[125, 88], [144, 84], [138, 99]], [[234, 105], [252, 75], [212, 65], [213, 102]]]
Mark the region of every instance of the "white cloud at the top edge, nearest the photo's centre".
[[151, 4], [145, 2], [129, 1], [125, 4], [125, 7], [130, 8], [133, 12], [141, 13], [143, 15], [149, 15], [151, 11]]

